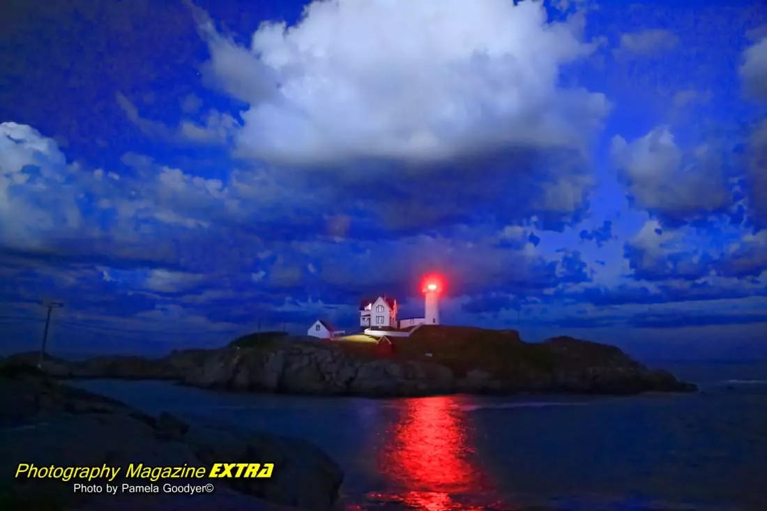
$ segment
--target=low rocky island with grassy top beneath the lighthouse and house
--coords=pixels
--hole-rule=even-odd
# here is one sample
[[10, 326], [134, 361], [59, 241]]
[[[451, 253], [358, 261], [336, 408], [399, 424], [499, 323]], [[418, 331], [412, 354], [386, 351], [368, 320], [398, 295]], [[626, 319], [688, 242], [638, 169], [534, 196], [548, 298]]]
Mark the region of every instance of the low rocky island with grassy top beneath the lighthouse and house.
[[[169, 379], [224, 391], [413, 397], [431, 394], [637, 394], [696, 391], [673, 374], [651, 370], [619, 348], [569, 337], [528, 343], [514, 330], [426, 325], [395, 339], [381, 355], [374, 343], [250, 335], [224, 348], [64, 361], [48, 358], [57, 377]], [[35, 361], [18, 354], [8, 361]]]

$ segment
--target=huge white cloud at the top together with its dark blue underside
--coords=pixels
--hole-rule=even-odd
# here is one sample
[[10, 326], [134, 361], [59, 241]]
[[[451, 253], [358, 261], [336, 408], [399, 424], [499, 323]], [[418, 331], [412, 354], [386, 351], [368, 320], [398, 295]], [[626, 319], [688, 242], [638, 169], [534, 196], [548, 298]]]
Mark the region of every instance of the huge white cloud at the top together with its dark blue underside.
[[269, 203], [293, 190], [304, 219], [351, 219], [304, 226], [335, 236], [577, 220], [609, 104], [560, 72], [594, 45], [581, 14], [549, 23], [540, 3], [514, 3], [314, 2], [291, 27], [263, 23], [249, 48], [193, 7], [206, 83], [247, 106], [236, 154], [258, 163], [230, 189]]

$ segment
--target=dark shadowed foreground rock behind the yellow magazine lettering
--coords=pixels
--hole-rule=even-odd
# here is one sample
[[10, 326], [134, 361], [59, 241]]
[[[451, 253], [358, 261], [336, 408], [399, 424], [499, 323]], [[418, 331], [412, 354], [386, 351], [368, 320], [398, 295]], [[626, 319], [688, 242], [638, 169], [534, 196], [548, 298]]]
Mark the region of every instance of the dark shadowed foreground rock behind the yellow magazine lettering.
[[[303, 440], [219, 425], [150, 417], [119, 401], [5, 364], [0, 371], [0, 509], [331, 509], [343, 475], [324, 452]], [[14, 477], [18, 463], [37, 466], [210, 466], [275, 463], [269, 479], [160, 480], [214, 483], [211, 495], [92, 495], [74, 481]], [[123, 480], [115, 483], [149, 483]], [[104, 480], [94, 481], [104, 483]], [[202, 507], [203, 503], [209, 504]], [[123, 508], [120, 508], [123, 506]]]

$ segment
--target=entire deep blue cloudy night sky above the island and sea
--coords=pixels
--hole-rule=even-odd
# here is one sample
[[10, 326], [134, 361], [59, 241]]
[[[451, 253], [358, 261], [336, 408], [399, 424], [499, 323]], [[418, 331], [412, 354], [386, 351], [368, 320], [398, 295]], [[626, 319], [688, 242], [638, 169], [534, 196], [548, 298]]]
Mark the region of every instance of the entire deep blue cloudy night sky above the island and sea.
[[363, 295], [767, 357], [762, 2], [11, 0], [0, 328], [220, 345]]

